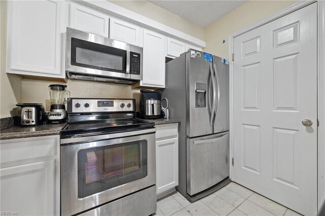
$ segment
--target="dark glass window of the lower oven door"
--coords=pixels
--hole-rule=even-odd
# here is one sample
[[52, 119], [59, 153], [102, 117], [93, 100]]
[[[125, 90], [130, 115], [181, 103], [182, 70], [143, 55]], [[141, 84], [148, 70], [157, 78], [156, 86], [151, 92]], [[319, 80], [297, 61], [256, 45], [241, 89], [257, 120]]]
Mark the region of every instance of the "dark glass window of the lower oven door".
[[78, 152], [78, 197], [83, 198], [147, 176], [147, 141]]

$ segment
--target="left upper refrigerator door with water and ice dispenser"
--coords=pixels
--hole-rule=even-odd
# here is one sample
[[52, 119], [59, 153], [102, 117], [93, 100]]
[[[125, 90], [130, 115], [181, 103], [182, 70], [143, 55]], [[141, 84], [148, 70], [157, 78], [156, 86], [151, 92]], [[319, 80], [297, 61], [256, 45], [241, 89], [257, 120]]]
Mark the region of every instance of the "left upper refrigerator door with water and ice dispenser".
[[[191, 53], [192, 51], [190, 51]], [[194, 51], [193, 51], [194, 52]], [[213, 133], [213, 121], [211, 120], [211, 110], [209, 108], [210, 79], [213, 71], [212, 62], [205, 61], [203, 53], [201, 57], [190, 57], [187, 55], [187, 92], [189, 112], [186, 119], [186, 135], [189, 137], [198, 137]], [[210, 67], [211, 65], [211, 67]], [[213, 120], [213, 119], [212, 119]]]

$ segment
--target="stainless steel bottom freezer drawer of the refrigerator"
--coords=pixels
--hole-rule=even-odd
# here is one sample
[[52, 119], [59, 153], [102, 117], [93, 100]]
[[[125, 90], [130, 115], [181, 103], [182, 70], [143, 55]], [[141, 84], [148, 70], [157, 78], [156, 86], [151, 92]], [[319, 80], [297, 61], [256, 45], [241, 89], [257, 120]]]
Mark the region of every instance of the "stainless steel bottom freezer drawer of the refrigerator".
[[229, 176], [229, 132], [186, 139], [186, 149], [189, 195], [208, 189]]

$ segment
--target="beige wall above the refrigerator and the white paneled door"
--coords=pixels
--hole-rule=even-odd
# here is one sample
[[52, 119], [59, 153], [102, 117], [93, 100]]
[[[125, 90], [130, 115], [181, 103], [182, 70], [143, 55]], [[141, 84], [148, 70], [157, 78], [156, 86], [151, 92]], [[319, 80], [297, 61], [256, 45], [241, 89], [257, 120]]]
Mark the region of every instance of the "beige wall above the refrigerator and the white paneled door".
[[[229, 35], [297, 1], [248, 1], [205, 29], [205, 52], [229, 59]], [[226, 42], [222, 44], [222, 39]]]

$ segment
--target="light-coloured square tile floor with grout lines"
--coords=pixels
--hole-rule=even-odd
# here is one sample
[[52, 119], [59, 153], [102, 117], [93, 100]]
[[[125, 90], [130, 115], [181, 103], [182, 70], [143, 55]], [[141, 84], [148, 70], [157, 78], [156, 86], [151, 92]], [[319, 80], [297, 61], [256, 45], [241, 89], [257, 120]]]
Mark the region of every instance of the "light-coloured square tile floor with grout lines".
[[234, 182], [194, 203], [179, 192], [159, 199], [153, 215], [301, 215]]

